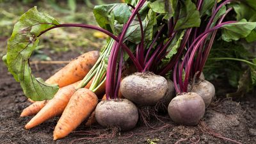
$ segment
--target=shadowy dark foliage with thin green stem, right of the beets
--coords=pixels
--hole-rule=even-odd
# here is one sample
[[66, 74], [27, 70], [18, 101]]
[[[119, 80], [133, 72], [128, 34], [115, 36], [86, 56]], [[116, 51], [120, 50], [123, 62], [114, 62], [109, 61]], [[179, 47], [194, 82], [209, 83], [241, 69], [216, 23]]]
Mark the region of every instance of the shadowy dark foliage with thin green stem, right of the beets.
[[227, 97], [243, 97], [252, 92], [256, 85], [255, 45], [255, 42], [248, 44], [243, 40], [216, 42], [204, 68], [205, 77], [211, 81], [222, 79], [226, 81], [224, 86], [237, 88], [236, 92], [227, 93]]

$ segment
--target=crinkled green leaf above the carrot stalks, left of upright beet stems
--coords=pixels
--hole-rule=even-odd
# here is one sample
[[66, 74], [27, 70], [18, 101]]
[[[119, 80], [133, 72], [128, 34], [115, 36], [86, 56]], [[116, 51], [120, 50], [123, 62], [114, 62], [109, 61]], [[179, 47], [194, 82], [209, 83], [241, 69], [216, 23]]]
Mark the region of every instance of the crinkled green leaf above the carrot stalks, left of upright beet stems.
[[116, 33], [115, 24], [125, 24], [131, 10], [126, 3], [104, 4], [95, 6], [93, 14], [101, 28]]

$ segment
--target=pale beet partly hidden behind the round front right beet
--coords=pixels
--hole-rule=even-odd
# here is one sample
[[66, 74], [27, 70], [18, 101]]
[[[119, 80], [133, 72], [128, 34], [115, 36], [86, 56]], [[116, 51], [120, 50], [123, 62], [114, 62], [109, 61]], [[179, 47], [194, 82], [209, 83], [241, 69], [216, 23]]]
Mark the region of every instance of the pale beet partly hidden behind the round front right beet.
[[195, 92], [202, 97], [205, 103], [205, 108], [207, 108], [212, 100], [212, 97], [215, 95], [215, 88], [212, 83], [209, 81], [199, 81], [195, 83], [191, 92]]

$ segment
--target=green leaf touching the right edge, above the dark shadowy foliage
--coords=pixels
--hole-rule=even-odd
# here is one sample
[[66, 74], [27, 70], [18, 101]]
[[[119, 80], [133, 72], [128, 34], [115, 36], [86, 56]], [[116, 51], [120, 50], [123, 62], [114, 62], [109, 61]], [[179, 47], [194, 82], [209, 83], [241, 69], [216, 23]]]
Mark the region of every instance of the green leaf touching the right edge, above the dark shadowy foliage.
[[239, 40], [250, 35], [253, 29], [256, 28], [256, 22], [246, 22], [244, 20], [227, 24], [222, 27], [221, 38], [227, 42], [232, 40]]

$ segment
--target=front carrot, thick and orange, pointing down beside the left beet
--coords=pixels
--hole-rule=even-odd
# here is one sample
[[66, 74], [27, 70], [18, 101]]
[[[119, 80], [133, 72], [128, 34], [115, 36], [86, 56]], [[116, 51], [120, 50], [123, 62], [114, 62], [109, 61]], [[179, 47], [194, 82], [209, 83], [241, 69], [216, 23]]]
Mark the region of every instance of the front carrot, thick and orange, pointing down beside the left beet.
[[83, 122], [96, 108], [98, 98], [95, 93], [87, 88], [81, 88], [71, 97], [67, 107], [63, 111], [58, 124], [56, 125], [53, 137], [54, 140], [64, 138]]

